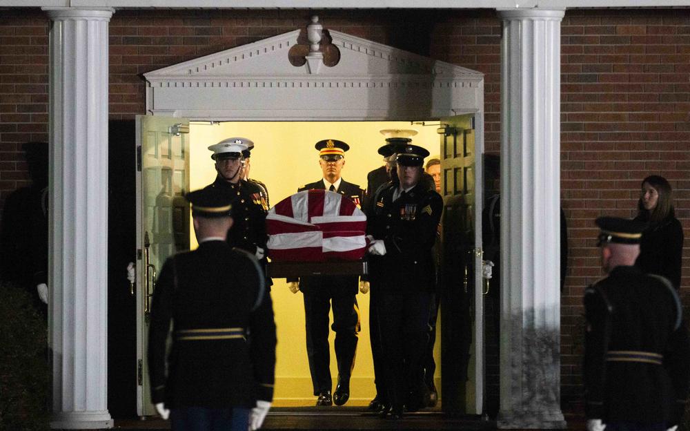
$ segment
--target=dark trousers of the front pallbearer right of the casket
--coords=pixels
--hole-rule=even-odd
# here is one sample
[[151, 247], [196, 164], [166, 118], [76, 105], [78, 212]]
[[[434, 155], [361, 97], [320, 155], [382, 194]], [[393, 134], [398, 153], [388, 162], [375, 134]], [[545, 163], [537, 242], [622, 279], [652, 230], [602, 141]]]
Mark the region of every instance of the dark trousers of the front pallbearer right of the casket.
[[[422, 407], [424, 379], [420, 361], [427, 345], [427, 326], [432, 294], [404, 292], [381, 296], [379, 327], [386, 361], [388, 401], [402, 410]], [[425, 389], [425, 388], [424, 388]]]

